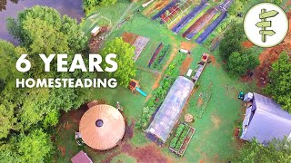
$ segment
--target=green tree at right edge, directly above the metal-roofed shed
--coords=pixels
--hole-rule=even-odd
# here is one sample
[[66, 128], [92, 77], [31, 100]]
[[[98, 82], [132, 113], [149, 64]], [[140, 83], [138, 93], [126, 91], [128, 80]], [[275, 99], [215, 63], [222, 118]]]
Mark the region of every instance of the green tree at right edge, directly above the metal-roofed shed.
[[266, 86], [266, 93], [271, 94], [283, 109], [291, 113], [291, 60], [287, 53], [281, 53], [272, 64], [268, 78], [270, 83]]

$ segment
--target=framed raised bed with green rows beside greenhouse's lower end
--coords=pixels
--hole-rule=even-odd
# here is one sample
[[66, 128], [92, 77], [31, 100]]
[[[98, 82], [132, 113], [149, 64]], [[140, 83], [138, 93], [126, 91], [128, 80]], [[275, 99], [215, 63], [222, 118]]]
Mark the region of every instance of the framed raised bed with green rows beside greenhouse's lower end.
[[182, 157], [188, 147], [190, 140], [192, 139], [195, 130], [193, 127], [186, 123], [180, 123], [176, 129], [176, 134], [170, 142], [170, 151], [176, 153], [176, 155]]

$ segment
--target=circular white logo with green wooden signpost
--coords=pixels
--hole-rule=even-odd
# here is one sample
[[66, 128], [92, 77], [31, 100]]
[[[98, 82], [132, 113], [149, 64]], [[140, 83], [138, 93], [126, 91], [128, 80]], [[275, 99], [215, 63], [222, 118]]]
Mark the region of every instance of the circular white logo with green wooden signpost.
[[245, 16], [244, 30], [248, 40], [260, 47], [272, 47], [281, 43], [288, 33], [288, 18], [277, 5], [254, 5]]

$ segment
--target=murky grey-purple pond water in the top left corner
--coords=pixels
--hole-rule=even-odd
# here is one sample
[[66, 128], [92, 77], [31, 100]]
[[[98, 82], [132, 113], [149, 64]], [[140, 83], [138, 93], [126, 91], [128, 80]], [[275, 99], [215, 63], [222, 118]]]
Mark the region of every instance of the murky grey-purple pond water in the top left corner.
[[0, 0], [0, 39], [17, 43], [6, 29], [6, 19], [15, 18], [19, 11], [34, 5], [53, 7], [60, 14], [67, 14], [79, 22], [84, 16], [82, 0]]

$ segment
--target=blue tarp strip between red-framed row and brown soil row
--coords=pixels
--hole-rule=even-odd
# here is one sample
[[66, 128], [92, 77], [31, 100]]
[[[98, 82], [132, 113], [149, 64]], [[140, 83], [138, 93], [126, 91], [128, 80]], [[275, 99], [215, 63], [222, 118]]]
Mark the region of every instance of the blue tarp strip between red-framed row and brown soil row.
[[172, 31], [177, 34], [181, 31], [181, 29], [186, 25], [191, 22], [192, 19], [195, 18], [195, 16], [200, 13], [205, 7], [206, 7], [206, 2], [208, 0], [202, 1], [200, 5], [197, 5], [189, 14], [187, 14], [185, 17], [181, 19], [181, 21], [174, 26]]

